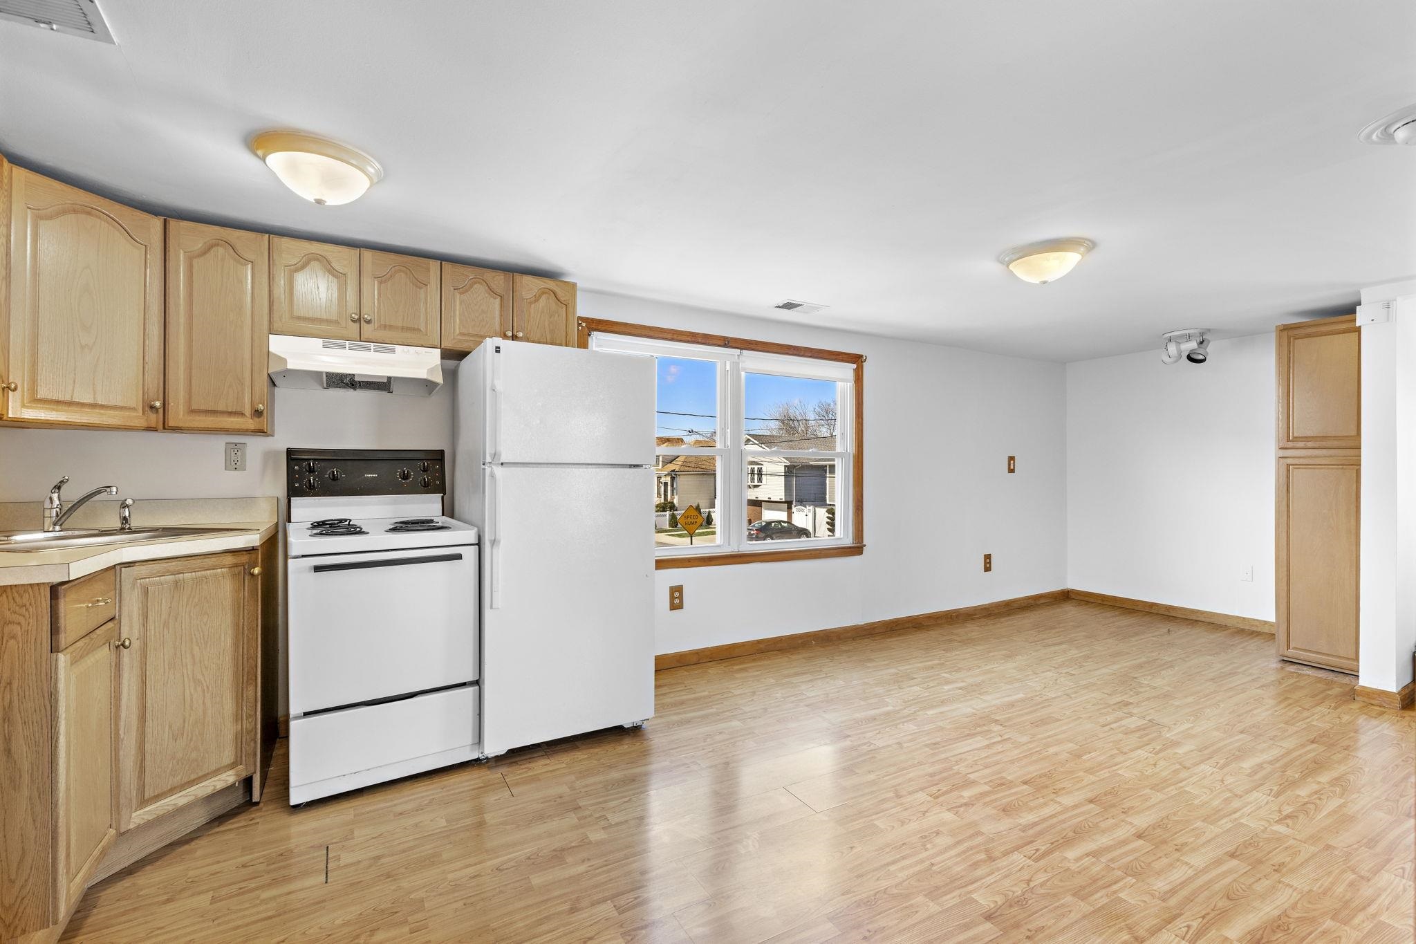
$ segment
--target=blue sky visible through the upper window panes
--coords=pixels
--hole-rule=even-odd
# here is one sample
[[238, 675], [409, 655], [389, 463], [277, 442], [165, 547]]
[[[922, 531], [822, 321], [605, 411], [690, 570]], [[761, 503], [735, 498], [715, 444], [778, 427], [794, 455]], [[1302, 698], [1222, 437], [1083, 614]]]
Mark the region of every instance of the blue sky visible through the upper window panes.
[[[721, 368], [716, 361], [694, 361], [677, 357], [658, 359], [658, 405], [660, 410], [674, 413], [702, 413], [711, 418], [718, 412], [716, 378]], [[748, 374], [746, 413], [765, 416], [766, 410], [783, 402], [800, 401], [810, 406], [818, 401], [835, 399], [835, 384], [811, 381], [799, 376], [775, 376], [770, 374]], [[712, 430], [714, 420], [705, 416], [673, 416], [660, 413], [656, 436], [683, 436], [692, 439], [695, 433]], [[749, 419], [748, 429], [763, 423]]]

